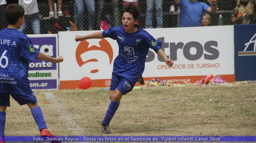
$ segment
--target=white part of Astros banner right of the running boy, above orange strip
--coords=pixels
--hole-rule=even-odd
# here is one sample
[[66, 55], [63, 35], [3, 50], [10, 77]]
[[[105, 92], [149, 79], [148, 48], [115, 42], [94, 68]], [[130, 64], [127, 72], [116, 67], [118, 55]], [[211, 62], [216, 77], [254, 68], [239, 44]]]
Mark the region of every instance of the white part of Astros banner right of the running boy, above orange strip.
[[[210, 26], [193, 28], [148, 29], [163, 42], [162, 49], [174, 60], [165, 62], [148, 57], [144, 77], [234, 74], [234, 27]], [[154, 52], [152, 49], [150, 51]], [[148, 56], [152, 56], [149, 55]]]

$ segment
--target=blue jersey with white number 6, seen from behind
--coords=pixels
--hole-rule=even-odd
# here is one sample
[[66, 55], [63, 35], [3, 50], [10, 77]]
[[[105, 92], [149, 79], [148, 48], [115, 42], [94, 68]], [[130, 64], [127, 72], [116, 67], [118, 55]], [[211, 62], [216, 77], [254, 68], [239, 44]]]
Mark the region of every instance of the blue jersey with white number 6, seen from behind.
[[17, 29], [0, 31], [0, 93], [26, 94], [31, 92], [28, 80], [28, 61], [39, 54], [28, 36]]

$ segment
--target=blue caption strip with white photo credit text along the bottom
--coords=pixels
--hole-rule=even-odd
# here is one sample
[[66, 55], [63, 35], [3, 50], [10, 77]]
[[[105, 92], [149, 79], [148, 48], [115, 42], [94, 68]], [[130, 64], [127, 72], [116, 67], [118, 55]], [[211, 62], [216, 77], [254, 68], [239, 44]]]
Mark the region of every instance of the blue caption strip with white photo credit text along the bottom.
[[255, 142], [256, 136], [5, 136], [4, 140], [13, 142]]

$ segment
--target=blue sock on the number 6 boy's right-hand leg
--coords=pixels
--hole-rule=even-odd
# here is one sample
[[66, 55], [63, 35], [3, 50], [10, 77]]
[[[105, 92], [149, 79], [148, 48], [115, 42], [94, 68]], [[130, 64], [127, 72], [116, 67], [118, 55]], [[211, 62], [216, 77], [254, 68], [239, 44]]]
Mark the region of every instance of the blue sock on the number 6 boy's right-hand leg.
[[34, 117], [36, 124], [38, 126], [39, 131], [41, 131], [42, 129], [47, 128], [44, 117], [43, 117], [43, 113], [42, 110], [39, 106], [34, 107], [33, 109], [31, 109], [31, 113], [32, 116]]

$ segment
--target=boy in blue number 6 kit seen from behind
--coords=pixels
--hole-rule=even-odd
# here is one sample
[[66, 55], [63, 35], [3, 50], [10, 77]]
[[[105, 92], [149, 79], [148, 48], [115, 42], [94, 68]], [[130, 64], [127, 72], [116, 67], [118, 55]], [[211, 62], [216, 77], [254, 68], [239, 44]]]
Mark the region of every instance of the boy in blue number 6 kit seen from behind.
[[[20, 105], [27, 105], [35, 119], [41, 136], [55, 137], [47, 129], [42, 110], [29, 86], [28, 61], [35, 58], [62, 62], [63, 57], [50, 57], [36, 49], [28, 36], [18, 29], [24, 23], [24, 8], [10, 4], [5, 9], [8, 27], [0, 31], [0, 136], [4, 138], [6, 108], [10, 95]], [[4, 142], [2, 140], [2, 142]]]

